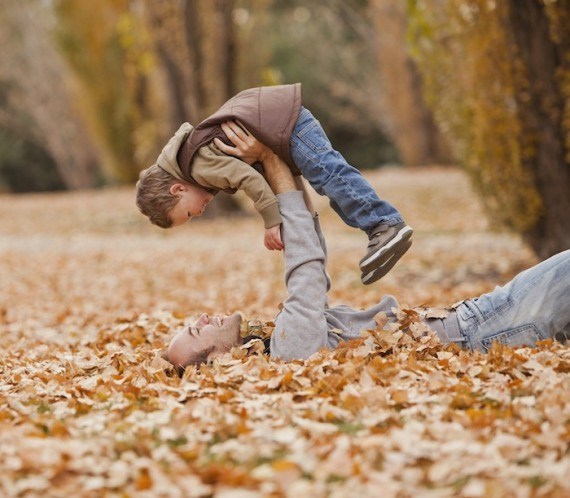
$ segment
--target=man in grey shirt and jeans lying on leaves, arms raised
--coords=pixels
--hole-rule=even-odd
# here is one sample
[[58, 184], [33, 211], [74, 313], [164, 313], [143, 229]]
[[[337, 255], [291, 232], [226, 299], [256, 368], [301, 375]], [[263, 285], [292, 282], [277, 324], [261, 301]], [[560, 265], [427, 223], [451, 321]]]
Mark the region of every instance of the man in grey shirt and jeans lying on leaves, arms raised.
[[[329, 307], [330, 279], [326, 247], [317, 213], [304, 195], [302, 180], [260, 142], [246, 135], [232, 137], [237, 157], [264, 157], [265, 174], [279, 201], [285, 246], [287, 298], [275, 319], [267, 352], [284, 360], [306, 359], [321, 348], [335, 348], [374, 329], [374, 317], [384, 312], [395, 321], [396, 299], [384, 296], [375, 306], [355, 310], [346, 305]], [[246, 140], [247, 139], [247, 140]], [[493, 341], [508, 346], [534, 346], [537, 341], [570, 332], [570, 250], [517, 275], [503, 287], [450, 310], [446, 318], [425, 318], [442, 343], [469, 350], [487, 351]], [[425, 316], [425, 311], [424, 311]], [[180, 372], [241, 345], [242, 317], [203, 314], [194, 326], [172, 339], [167, 359]]]

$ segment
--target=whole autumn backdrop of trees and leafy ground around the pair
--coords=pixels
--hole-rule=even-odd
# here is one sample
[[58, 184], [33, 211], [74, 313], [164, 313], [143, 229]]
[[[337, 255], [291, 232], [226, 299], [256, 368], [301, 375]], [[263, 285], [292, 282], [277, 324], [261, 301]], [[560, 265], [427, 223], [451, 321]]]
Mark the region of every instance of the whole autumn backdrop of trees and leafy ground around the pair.
[[[0, 0], [0, 496], [570, 496], [567, 345], [459, 351], [413, 311], [570, 246], [569, 26], [568, 0]], [[134, 183], [182, 121], [297, 81], [414, 227], [364, 286], [313, 192], [331, 305], [398, 322], [179, 378], [160, 353], [202, 312], [271, 333], [283, 257], [243, 192], [162, 230]]]

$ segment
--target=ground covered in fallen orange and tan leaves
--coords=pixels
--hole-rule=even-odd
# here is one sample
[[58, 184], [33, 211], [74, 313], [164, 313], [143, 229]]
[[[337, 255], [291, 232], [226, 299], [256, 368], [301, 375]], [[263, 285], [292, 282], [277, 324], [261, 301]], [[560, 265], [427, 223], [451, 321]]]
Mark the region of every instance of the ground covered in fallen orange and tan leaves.
[[414, 325], [413, 307], [489, 291], [532, 254], [457, 170], [369, 178], [414, 246], [365, 287], [364, 236], [317, 198], [331, 303], [393, 294], [399, 323], [306, 362], [254, 343], [182, 379], [158, 354], [200, 312], [271, 332], [283, 266], [260, 219], [163, 231], [132, 189], [0, 195], [0, 495], [569, 496], [568, 348], [470, 354]]

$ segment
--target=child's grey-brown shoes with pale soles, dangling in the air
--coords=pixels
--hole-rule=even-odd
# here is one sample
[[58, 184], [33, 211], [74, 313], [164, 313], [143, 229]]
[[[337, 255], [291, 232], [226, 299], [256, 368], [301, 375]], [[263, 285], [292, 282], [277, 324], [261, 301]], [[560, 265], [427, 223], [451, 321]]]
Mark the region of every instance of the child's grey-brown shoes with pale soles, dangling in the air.
[[371, 284], [386, 275], [412, 245], [413, 233], [404, 222], [394, 226], [382, 223], [374, 228], [366, 255], [360, 260], [362, 283]]

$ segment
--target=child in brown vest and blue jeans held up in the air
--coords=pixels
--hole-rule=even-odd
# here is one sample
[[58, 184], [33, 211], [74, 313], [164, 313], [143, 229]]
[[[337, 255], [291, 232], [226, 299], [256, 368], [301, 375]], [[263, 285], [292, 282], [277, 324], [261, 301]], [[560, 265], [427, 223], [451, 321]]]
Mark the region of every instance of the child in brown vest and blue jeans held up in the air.
[[[239, 123], [239, 124], [238, 124]], [[265, 246], [283, 249], [277, 198], [261, 165], [235, 157], [230, 138], [251, 133], [277, 154], [293, 175], [302, 175], [349, 226], [368, 236], [360, 260], [361, 279], [382, 278], [412, 244], [413, 230], [381, 200], [370, 183], [334, 150], [320, 123], [301, 105], [301, 84], [252, 88], [228, 100], [193, 128], [184, 123], [155, 164], [137, 182], [137, 206], [162, 228], [200, 216], [213, 196], [243, 190], [265, 225]]]

